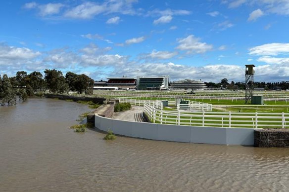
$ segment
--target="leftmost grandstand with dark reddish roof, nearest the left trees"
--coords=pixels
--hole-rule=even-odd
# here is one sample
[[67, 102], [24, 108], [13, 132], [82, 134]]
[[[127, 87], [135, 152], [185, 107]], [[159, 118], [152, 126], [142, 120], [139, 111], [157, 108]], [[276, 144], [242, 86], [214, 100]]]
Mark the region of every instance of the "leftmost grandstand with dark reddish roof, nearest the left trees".
[[137, 79], [132, 77], [108, 77], [106, 86], [118, 87], [119, 89], [135, 89]]

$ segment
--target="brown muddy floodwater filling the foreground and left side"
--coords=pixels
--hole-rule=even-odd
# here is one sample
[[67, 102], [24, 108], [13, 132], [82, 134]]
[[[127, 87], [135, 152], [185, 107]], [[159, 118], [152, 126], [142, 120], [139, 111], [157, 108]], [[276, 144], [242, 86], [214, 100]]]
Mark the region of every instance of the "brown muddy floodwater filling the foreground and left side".
[[289, 149], [74, 133], [74, 102], [0, 107], [0, 192], [289, 191]]

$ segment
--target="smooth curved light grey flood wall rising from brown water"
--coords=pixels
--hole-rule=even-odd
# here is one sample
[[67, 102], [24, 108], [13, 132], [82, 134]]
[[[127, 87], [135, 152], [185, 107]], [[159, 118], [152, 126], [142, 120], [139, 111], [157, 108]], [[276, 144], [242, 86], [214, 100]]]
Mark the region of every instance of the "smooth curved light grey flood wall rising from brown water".
[[119, 135], [160, 141], [224, 145], [254, 144], [254, 129], [251, 128], [156, 124], [111, 119], [98, 115], [95, 117], [95, 125], [100, 130], [111, 129], [113, 133]]

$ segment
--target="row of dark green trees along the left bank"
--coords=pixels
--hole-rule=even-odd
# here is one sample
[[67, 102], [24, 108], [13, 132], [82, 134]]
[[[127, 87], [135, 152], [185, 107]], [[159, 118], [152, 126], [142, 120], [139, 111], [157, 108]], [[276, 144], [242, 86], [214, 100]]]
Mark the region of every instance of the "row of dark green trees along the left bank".
[[45, 76], [40, 72], [27, 74], [25, 71], [18, 71], [15, 77], [0, 75], [0, 105], [14, 106], [17, 97], [27, 101], [29, 96], [35, 92], [49, 91], [53, 94], [63, 94], [69, 91], [85, 95], [93, 94], [94, 79], [85, 74], [77, 75], [72, 72], [66, 73], [65, 77], [61, 71], [55, 69], [44, 71]]

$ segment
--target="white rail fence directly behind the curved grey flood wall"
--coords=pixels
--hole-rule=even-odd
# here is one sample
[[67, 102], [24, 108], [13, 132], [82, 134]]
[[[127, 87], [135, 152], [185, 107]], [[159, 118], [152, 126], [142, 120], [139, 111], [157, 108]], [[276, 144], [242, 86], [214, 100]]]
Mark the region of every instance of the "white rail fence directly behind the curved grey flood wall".
[[181, 112], [156, 109], [144, 104], [144, 113], [154, 123], [242, 128], [287, 128], [288, 113], [233, 113], [233, 112]]

